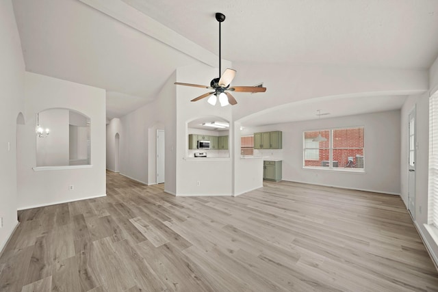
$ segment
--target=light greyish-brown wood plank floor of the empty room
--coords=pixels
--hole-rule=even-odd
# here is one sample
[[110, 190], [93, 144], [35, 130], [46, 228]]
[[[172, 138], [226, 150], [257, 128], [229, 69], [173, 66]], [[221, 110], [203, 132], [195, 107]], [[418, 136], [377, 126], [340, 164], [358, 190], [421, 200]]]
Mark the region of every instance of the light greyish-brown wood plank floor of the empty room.
[[179, 198], [107, 172], [107, 196], [19, 212], [0, 291], [438, 291], [398, 196], [268, 183]]

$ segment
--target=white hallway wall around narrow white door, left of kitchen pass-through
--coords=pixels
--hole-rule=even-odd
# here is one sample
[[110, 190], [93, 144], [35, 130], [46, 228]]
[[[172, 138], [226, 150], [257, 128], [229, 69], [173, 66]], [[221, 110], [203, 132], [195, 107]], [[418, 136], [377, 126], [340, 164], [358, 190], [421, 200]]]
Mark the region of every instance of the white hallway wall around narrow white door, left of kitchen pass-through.
[[120, 118], [120, 174], [145, 184], [155, 178], [155, 130], [165, 131], [166, 178], [164, 187], [175, 194], [176, 105], [175, 73], [170, 76], [152, 103]]

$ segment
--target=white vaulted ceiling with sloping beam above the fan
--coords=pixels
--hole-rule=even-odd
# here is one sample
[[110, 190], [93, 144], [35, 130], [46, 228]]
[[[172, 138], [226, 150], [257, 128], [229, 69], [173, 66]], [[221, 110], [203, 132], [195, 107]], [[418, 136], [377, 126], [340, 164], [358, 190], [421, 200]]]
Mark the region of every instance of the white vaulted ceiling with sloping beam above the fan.
[[[216, 12], [231, 62], [426, 69], [438, 55], [436, 0], [13, 3], [26, 69], [104, 88], [107, 118], [152, 101], [178, 67], [217, 66]], [[381, 109], [402, 101], [387, 96]]]

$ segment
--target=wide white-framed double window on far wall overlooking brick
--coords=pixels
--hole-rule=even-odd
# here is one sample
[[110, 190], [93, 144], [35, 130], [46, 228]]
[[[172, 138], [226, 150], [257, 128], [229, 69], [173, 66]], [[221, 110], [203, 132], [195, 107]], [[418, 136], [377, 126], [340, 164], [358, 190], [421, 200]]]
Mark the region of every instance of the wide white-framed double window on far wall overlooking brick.
[[[326, 141], [315, 141], [318, 136]], [[305, 168], [363, 170], [363, 127], [322, 129], [303, 133]]]

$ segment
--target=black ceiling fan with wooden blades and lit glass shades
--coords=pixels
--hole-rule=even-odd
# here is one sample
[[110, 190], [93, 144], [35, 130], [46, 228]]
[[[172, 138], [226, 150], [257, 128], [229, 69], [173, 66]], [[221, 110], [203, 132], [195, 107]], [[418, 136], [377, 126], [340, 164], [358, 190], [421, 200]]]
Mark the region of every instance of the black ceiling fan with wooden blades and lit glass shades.
[[[224, 14], [218, 12], [216, 13], [216, 20], [219, 22], [219, 76], [221, 73], [220, 70], [220, 23], [222, 23], [225, 20]], [[220, 76], [220, 78], [215, 78], [211, 80], [210, 85], [198, 85], [198, 84], [192, 84], [192, 83], [181, 83], [181, 82], [175, 82], [176, 85], [185, 85], [185, 86], [192, 86], [197, 88], [207, 88], [214, 90], [212, 92], [207, 92], [205, 94], [202, 94], [201, 96], [198, 96], [196, 98], [193, 98], [192, 101], [199, 101], [207, 96], [210, 96], [208, 99], [208, 103], [211, 105], [216, 105], [216, 101], [219, 99], [220, 105], [235, 105], [237, 104], [237, 101], [235, 100], [234, 96], [231, 95], [231, 91], [233, 92], [266, 92], [266, 88], [259, 87], [259, 86], [232, 86], [230, 87], [231, 81], [233, 81], [235, 77], [235, 70], [227, 68], [225, 70], [224, 74]], [[213, 94], [213, 95], [212, 95]]]

